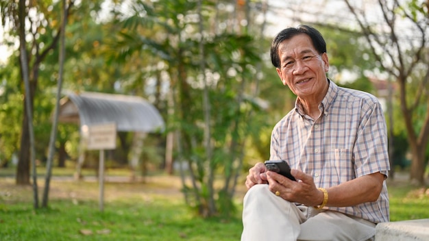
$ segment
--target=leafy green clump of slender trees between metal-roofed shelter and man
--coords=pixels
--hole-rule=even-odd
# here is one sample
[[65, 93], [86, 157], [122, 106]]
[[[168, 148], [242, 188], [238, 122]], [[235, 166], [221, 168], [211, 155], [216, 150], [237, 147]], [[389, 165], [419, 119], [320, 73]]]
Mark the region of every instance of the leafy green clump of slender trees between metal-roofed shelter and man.
[[[247, 136], [265, 122], [253, 115], [261, 110], [252, 92], [258, 45], [246, 30], [235, 32], [228, 24], [223, 31], [212, 27], [228, 22], [216, 18], [221, 15], [217, 4], [230, 5], [136, 1], [134, 14], [122, 22], [127, 29], [112, 47], [115, 60], [130, 60], [138, 53], [137, 58], [149, 60], [145, 75], [161, 86], [167, 79], [170, 91], [163, 100], [169, 105], [167, 125], [175, 136], [175, 160], [188, 166], [187, 175], [181, 172], [185, 199], [202, 216], [232, 213]], [[221, 188], [216, 184], [219, 175]]]

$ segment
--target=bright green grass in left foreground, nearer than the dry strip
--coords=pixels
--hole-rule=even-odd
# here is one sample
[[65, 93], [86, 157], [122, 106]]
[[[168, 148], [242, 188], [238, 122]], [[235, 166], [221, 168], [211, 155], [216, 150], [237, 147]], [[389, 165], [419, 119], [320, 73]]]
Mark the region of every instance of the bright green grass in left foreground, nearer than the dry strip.
[[108, 203], [53, 201], [34, 212], [29, 203], [1, 207], [1, 240], [239, 240], [241, 221], [197, 218], [180, 203], [140, 199]]

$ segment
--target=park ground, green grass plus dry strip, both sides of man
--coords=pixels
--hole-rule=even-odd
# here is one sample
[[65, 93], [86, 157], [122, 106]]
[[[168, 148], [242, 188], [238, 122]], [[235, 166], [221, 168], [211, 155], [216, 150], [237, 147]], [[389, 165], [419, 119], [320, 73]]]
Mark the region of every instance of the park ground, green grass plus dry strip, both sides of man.
[[[53, 179], [49, 209], [34, 210], [32, 187], [15, 186], [0, 169], [0, 240], [240, 239], [241, 196], [236, 199], [239, 212], [230, 220], [204, 219], [184, 205], [177, 180], [108, 181], [101, 212], [97, 181]], [[392, 221], [429, 218], [428, 188], [392, 181], [389, 195]]]

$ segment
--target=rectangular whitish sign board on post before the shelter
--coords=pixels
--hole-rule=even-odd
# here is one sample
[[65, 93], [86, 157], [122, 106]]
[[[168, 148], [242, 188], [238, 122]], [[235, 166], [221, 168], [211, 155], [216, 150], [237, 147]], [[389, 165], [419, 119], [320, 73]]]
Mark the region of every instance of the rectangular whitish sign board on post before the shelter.
[[117, 148], [116, 123], [84, 125], [82, 134], [86, 137], [86, 149], [108, 150]]

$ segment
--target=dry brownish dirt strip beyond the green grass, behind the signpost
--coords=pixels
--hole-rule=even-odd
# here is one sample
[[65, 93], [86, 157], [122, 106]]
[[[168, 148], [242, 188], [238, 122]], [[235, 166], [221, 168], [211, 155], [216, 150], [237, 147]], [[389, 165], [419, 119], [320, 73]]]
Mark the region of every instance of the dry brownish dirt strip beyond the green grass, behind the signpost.
[[[38, 196], [42, 196], [44, 179], [38, 179]], [[130, 180], [130, 177], [106, 177], [104, 200], [143, 199], [155, 197], [183, 199], [182, 181], [176, 176], [154, 176]], [[237, 188], [236, 198], [244, 196], [243, 187]], [[32, 186], [16, 186], [13, 177], [0, 177], [0, 203], [32, 201]], [[97, 177], [84, 177], [77, 181], [73, 177], [53, 177], [50, 182], [49, 199], [98, 200], [99, 183]]]

